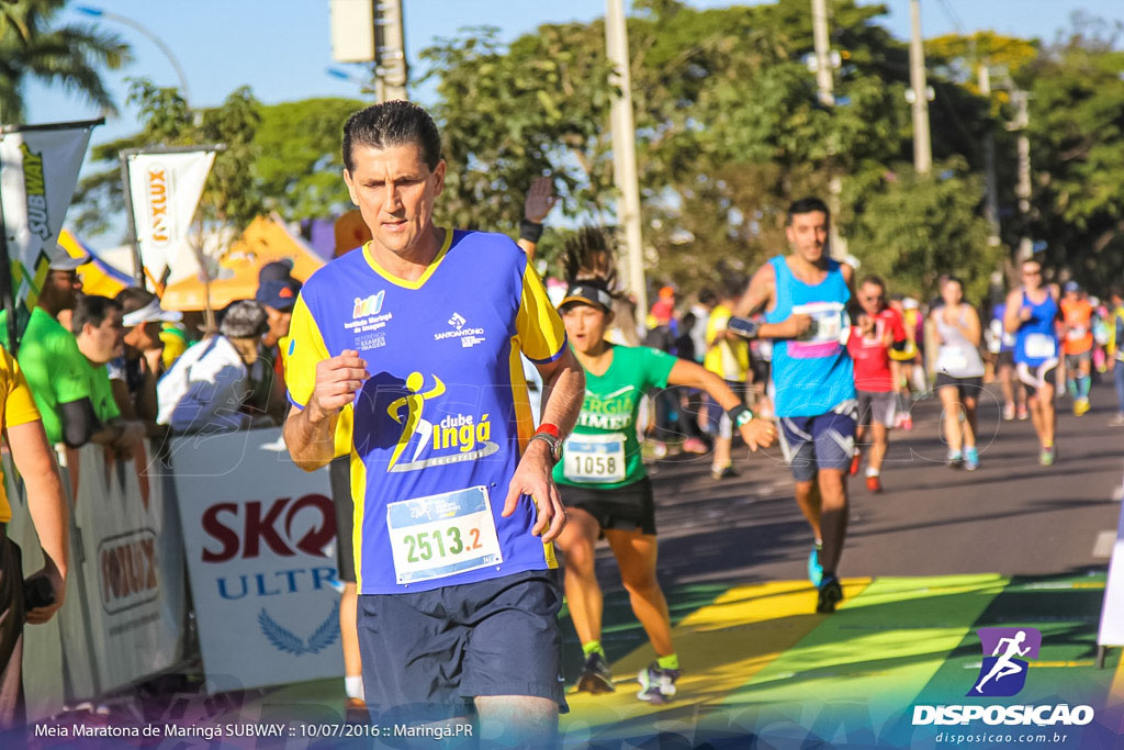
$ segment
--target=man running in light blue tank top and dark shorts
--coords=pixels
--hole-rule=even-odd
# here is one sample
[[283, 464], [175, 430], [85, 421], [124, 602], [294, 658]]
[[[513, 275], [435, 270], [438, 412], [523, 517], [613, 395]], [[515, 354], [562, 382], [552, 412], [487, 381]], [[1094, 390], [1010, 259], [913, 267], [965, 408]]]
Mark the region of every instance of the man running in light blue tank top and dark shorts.
[[[792, 252], [762, 265], [735, 313], [765, 310], [750, 334], [773, 340], [776, 413], [781, 448], [796, 480], [796, 500], [815, 534], [808, 577], [819, 589], [816, 612], [843, 598], [835, 575], [847, 524], [847, 470], [854, 453], [854, 371], [846, 351], [854, 271], [824, 251], [831, 214], [817, 198], [788, 209]], [[734, 326], [732, 326], [734, 327]]]

